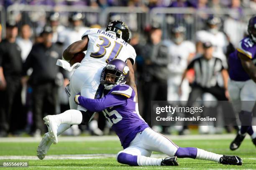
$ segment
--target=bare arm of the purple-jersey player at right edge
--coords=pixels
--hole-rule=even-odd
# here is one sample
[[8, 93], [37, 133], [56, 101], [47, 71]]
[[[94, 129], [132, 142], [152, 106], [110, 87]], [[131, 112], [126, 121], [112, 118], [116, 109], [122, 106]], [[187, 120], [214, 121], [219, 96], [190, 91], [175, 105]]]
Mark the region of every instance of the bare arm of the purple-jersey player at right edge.
[[241, 60], [243, 69], [251, 77], [251, 79], [256, 83], [256, 66], [254, 65], [253, 61], [242, 53], [238, 53], [238, 57]]

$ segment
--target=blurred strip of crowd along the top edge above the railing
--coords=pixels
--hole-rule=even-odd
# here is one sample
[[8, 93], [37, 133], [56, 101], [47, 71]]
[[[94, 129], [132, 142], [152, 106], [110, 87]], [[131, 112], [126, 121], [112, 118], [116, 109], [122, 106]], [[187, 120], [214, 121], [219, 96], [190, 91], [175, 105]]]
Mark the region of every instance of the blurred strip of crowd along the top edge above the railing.
[[112, 6], [136, 7], [191, 7], [191, 8], [253, 8], [255, 0], [0, 0], [0, 5], [8, 7], [13, 4], [24, 5], [79, 5], [107, 8]]

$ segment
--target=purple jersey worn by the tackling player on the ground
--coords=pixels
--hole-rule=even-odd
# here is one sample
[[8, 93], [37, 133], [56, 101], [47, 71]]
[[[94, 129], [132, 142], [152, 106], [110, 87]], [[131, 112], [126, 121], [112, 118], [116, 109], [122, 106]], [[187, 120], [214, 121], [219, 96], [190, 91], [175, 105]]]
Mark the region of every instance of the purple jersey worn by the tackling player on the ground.
[[78, 101], [91, 112], [103, 112], [124, 149], [130, 145], [138, 132], [149, 127], [136, 112], [135, 91], [126, 84], [118, 84], [101, 99], [79, 96]]

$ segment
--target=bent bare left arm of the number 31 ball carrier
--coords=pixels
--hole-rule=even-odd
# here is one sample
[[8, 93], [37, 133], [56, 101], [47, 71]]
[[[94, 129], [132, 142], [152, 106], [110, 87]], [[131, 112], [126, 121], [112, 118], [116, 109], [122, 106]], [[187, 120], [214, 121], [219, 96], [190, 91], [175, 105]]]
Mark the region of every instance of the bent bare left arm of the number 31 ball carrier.
[[63, 52], [63, 58], [67, 61], [71, 60], [76, 53], [80, 53], [87, 50], [89, 38], [84, 36], [82, 40], [72, 43], [66, 50]]

